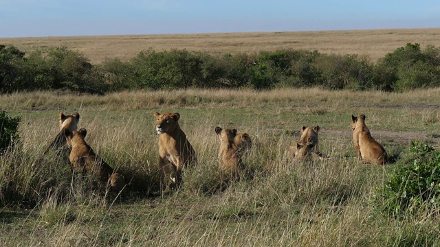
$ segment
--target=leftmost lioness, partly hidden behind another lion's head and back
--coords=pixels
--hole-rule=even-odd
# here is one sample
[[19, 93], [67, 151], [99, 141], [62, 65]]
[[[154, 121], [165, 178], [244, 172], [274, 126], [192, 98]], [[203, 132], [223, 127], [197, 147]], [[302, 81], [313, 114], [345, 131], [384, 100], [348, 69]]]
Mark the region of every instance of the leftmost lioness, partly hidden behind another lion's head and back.
[[63, 133], [63, 129], [74, 131], [78, 130], [78, 121], [80, 121], [79, 113], [72, 113], [72, 115], [64, 115], [63, 113], [58, 114], [58, 121], [60, 126], [60, 132], [56, 135], [54, 141], [46, 148], [44, 154], [47, 154], [50, 150], [56, 150], [56, 155], [69, 156], [69, 148], [67, 146], [66, 137]]

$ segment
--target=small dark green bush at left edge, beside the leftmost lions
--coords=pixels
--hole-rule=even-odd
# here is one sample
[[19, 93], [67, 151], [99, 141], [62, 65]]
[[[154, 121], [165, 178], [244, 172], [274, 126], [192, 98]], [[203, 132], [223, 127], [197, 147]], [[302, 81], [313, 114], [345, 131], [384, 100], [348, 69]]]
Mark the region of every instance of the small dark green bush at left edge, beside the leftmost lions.
[[19, 138], [19, 117], [8, 117], [3, 110], [0, 110], [0, 154], [14, 148]]

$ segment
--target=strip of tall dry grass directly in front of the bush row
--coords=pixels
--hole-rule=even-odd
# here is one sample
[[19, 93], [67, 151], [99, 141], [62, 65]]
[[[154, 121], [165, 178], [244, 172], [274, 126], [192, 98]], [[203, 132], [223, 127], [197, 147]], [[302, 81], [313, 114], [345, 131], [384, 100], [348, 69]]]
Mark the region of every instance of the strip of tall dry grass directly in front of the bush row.
[[314, 89], [184, 89], [162, 91], [122, 91], [105, 96], [36, 91], [0, 95], [7, 110], [61, 110], [98, 108], [102, 110], [145, 110], [160, 108], [248, 108], [280, 106], [375, 106], [428, 108], [437, 106], [440, 89], [406, 93], [381, 91], [329, 91]]

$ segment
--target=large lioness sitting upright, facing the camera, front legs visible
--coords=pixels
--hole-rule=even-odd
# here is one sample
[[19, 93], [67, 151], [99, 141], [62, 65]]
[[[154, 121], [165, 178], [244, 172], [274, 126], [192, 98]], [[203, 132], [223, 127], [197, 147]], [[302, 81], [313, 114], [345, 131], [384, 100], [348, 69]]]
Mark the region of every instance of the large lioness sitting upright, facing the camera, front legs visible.
[[183, 169], [197, 163], [197, 156], [186, 134], [179, 126], [179, 113], [154, 113], [157, 120], [155, 129], [159, 134], [159, 168], [161, 171], [161, 191], [166, 187], [166, 174], [173, 170], [170, 178], [175, 185], [181, 183]]

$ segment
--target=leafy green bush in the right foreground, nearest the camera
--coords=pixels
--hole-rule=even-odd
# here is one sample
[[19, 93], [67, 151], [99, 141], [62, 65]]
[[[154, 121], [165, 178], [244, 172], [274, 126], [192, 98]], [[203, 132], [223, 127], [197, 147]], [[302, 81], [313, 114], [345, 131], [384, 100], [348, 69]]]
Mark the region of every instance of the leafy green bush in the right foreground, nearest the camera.
[[410, 164], [398, 167], [375, 195], [380, 208], [391, 215], [439, 206], [440, 151], [418, 141], [411, 142], [410, 150]]

